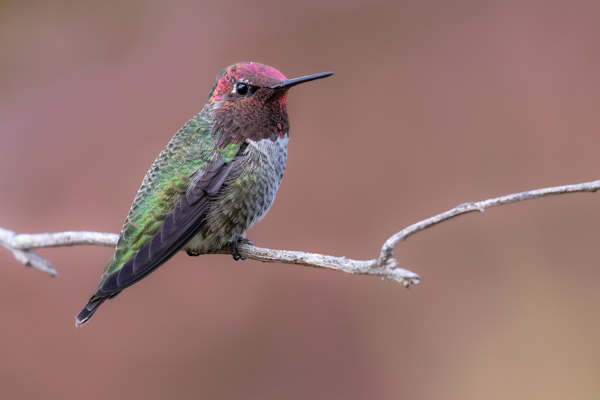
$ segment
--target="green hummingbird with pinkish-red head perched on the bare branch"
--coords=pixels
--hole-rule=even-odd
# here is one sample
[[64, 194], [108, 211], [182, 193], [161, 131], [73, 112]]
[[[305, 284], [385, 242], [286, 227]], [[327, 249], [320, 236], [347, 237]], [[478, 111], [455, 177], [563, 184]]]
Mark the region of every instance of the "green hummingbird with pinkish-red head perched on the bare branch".
[[271, 208], [286, 168], [287, 91], [332, 74], [287, 79], [255, 62], [223, 69], [202, 111], [143, 178], [115, 253], [75, 325], [179, 250], [197, 256], [230, 246], [233, 259], [243, 259], [238, 246], [250, 243], [246, 232]]

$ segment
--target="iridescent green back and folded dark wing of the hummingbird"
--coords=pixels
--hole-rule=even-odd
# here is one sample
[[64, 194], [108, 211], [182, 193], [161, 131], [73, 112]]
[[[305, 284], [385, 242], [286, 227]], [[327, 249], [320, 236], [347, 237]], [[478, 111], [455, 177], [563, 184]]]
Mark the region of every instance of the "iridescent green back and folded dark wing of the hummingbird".
[[182, 126], [146, 174], [97, 296], [113, 295], [145, 277], [200, 230], [208, 195], [221, 187], [241, 148], [216, 147], [210, 124], [200, 115]]

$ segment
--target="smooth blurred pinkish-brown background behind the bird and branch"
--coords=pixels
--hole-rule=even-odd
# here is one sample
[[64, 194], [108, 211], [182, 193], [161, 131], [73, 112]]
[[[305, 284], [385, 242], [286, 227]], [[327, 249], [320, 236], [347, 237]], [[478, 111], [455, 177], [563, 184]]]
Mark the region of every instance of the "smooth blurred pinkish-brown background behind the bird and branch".
[[[242, 60], [289, 78], [257, 246], [371, 259], [457, 204], [600, 178], [597, 1], [3, 1], [0, 226], [119, 232], [159, 151]], [[112, 250], [0, 249], [6, 399], [597, 399], [600, 194], [401, 243], [422, 283], [176, 255], [83, 328]]]

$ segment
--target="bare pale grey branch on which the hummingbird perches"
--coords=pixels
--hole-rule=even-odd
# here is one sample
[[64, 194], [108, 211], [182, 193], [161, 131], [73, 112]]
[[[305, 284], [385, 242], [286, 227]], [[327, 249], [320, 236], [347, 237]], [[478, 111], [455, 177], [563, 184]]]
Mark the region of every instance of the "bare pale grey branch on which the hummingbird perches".
[[[513, 193], [511, 195], [484, 201], [461, 204], [445, 213], [437, 214], [436, 216], [404, 228], [402, 231], [386, 240], [385, 244], [383, 244], [379, 258], [373, 260], [352, 260], [347, 259], [346, 257], [333, 257], [324, 254], [304, 253], [302, 251], [263, 249], [262, 247], [254, 247], [248, 244], [240, 245], [238, 252], [241, 256], [263, 262], [306, 265], [315, 268], [331, 269], [333, 271], [343, 271], [349, 274], [378, 275], [382, 278], [398, 281], [410, 289], [413, 284], [419, 283], [419, 275], [415, 274], [415, 272], [398, 267], [398, 262], [393, 257], [394, 247], [401, 241], [406, 240], [407, 237], [427, 229], [430, 226], [437, 225], [440, 222], [472, 211], [483, 212], [485, 208], [488, 207], [496, 207], [498, 205], [545, 196], [561, 195], [563, 193], [596, 192], [598, 189], [600, 189], [600, 180], [566, 186], [547, 187], [545, 189], [528, 190], [527, 192]], [[38, 254], [35, 254], [31, 249], [38, 249], [41, 247], [80, 246], [83, 244], [114, 247], [117, 239], [118, 235], [103, 232], [16, 234], [13, 231], [8, 231], [8, 229], [0, 228], [0, 246], [12, 251], [14, 257], [19, 262], [27, 266], [34, 266], [51, 275], [56, 275], [56, 271], [52, 268], [52, 264], [48, 260], [38, 256]], [[231, 250], [223, 248], [214, 251], [214, 253], [231, 254]]]

